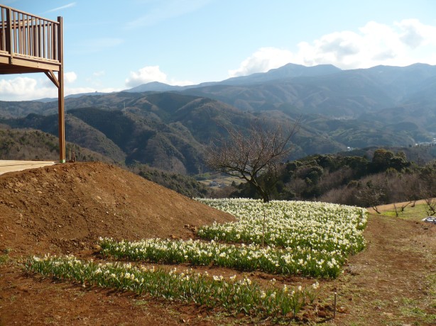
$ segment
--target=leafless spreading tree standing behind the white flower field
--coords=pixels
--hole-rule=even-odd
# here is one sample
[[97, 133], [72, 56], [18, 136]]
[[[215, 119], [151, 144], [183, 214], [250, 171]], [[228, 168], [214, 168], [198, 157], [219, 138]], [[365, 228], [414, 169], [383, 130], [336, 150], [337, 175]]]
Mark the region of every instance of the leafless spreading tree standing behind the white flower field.
[[[205, 162], [214, 171], [244, 179], [267, 203], [271, 186], [278, 181], [278, 168], [292, 151], [290, 139], [298, 128], [299, 119], [293, 125], [273, 127], [257, 121], [246, 133], [226, 128], [229, 137], [207, 147]], [[268, 182], [261, 182], [260, 176]]]

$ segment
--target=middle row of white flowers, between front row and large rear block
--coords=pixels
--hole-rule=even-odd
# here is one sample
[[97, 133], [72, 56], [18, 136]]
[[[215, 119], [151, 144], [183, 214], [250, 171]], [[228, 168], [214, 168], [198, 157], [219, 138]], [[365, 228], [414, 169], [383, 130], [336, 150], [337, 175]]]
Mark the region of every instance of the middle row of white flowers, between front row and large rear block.
[[215, 265], [243, 271], [258, 270], [271, 274], [327, 278], [338, 276], [344, 262], [344, 257], [338, 251], [228, 245], [214, 240], [147, 239], [117, 242], [111, 238], [100, 238], [100, 246], [102, 254], [116, 259], [160, 264]]

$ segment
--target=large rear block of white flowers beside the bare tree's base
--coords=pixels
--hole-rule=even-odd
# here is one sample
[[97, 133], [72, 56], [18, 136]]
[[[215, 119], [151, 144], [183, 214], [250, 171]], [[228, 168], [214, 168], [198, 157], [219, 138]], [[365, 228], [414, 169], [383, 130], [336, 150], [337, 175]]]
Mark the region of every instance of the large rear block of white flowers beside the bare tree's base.
[[252, 199], [202, 199], [197, 201], [234, 215], [236, 223], [206, 225], [197, 235], [206, 240], [242, 242], [316, 250], [343, 255], [364, 248], [362, 231], [366, 209], [332, 203]]

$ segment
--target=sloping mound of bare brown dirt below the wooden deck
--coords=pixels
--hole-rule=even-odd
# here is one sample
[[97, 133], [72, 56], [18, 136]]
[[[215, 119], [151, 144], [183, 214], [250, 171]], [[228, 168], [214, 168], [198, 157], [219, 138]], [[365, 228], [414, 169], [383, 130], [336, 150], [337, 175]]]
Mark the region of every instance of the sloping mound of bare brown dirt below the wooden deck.
[[192, 228], [234, 220], [123, 169], [62, 164], [0, 176], [0, 249], [76, 252], [98, 237], [192, 237]]

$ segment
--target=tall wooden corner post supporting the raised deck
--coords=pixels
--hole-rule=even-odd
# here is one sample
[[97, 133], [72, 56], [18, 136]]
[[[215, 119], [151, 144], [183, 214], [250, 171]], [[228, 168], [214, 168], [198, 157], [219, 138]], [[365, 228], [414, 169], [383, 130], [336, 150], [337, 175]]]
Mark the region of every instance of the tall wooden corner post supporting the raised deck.
[[64, 101], [64, 55], [62, 41], [62, 17], [58, 17], [58, 60], [60, 62], [58, 72], [58, 116], [59, 116], [59, 162], [65, 163], [65, 101]]

